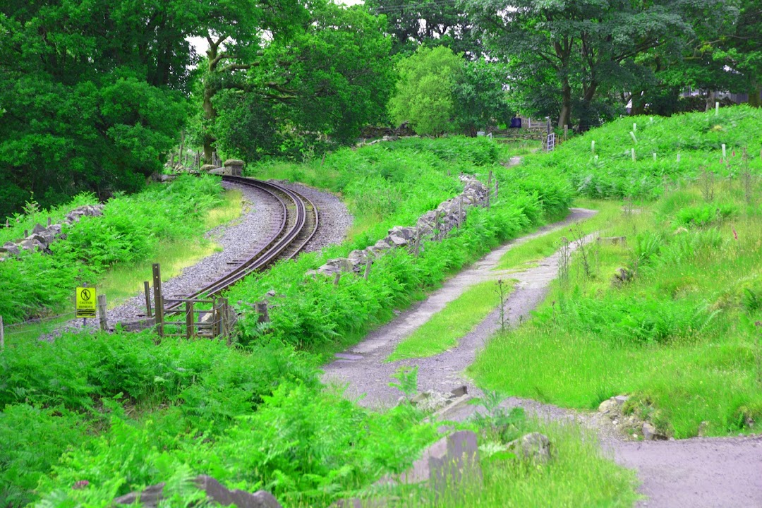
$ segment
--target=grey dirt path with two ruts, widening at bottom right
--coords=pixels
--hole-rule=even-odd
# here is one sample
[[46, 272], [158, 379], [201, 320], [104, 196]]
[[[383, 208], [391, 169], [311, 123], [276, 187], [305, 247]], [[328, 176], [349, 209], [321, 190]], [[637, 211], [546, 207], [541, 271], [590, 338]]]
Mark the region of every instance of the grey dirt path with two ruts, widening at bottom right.
[[[506, 302], [512, 324], [526, 318], [546, 295], [550, 281], [558, 271], [558, 257], [546, 257], [538, 267], [521, 273], [494, 270], [504, 252], [523, 241], [545, 235], [593, 215], [585, 209], [571, 209], [570, 216], [541, 229], [533, 235], [512, 241], [492, 251], [469, 270], [450, 279], [424, 302], [402, 312], [395, 321], [369, 334], [363, 342], [325, 366], [324, 381], [347, 384], [347, 395], [360, 398], [367, 407], [389, 407], [397, 403], [399, 391], [389, 387], [391, 375], [399, 366], [418, 366], [418, 388], [450, 391], [468, 385], [469, 393], [480, 391], [463, 375], [476, 353], [500, 327], [499, 312], [488, 315], [481, 324], [463, 337], [459, 345], [437, 356], [386, 363], [386, 358], [404, 337], [415, 331], [448, 302], [469, 286], [482, 280], [506, 276], [519, 280]], [[640, 491], [648, 498], [639, 506], [755, 506], [762, 508], [762, 436], [743, 438], [694, 438], [680, 441], [628, 441], [613, 429], [610, 421], [595, 413], [570, 411], [522, 398], [508, 398], [507, 406], [521, 406], [527, 412], [552, 420], [568, 420], [593, 429], [601, 446], [616, 462], [638, 471]], [[453, 419], [468, 417], [475, 411], [466, 406]]]

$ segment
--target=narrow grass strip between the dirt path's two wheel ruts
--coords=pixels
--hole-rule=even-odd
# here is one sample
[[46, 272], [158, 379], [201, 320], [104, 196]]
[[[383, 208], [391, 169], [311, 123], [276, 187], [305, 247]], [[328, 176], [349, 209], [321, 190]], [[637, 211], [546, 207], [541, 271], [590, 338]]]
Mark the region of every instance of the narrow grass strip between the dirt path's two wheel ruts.
[[475, 284], [405, 337], [386, 361], [443, 353], [457, 346], [460, 337], [468, 334], [498, 305], [500, 296], [495, 281]]

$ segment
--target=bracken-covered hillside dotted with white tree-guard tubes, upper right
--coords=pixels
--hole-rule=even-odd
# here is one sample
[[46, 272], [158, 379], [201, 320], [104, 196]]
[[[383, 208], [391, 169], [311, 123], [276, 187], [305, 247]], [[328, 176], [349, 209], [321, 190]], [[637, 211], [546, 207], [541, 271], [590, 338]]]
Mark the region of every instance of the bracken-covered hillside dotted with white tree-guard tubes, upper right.
[[542, 174], [561, 171], [583, 196], [651, 200], [677, 181], [685, 184], [685, 177], [703, 175], [714, 187], [741, 187], [744, 173], [762, 170], [760, 139], [762, 110], [747, 106], [722, 108], [718, 116], [712, 111], [629, 117], [569, 139], [552, 154], [527, 158], [524, 168]]

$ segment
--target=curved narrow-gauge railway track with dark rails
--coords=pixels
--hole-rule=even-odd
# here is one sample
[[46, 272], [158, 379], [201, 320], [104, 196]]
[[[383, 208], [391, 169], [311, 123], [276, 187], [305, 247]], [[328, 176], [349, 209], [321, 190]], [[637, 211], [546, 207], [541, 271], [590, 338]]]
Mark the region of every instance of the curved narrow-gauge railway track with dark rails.
[[[280, 203], [283, 209], [283, 219], [277, 232], [267, 240], [263, 248], [252, 254], [251, 257], [241, 260], [232, 270], [213, 283], [188, 295], [188, 299], [217, 295], [242, 280], [249, 273], [264, 270], [276, 260], [293, 258], [299, 254], [299, 251], [315, 236], [315, 232], [318, 230], [318, 209], [305, 196], [287, 187], [254, 178], [223, 176], [223, 181], [257, 187], [270, 194]], [[168, 305], [165, 310], [171, 312], [180, 305], [179, 302], [175, 302], [173, 305]]]

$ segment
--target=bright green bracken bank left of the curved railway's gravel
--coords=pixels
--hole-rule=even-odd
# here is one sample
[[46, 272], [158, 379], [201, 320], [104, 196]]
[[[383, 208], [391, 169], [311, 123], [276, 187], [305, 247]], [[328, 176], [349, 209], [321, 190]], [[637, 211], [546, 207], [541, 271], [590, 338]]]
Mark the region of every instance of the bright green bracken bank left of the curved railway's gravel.
[[[109, 267], [130, 266], [155, 257], [173, 241], [198, 241], [207, 212], [222, 202], [216, 177], [181, 177], [168, 185], [155, 184], [142, 193], [109, 200], [103, 216], [84, 217], [64, 226], [65, 239], [50, 245], [51, 254], [22, 251], [0, 263], [0, 280], [8, 298], [0, 302], [6, 324], [62, 312], [72, 291], [82, 283], [95, 286]], [[76, 204], [91, 202], [81, 196]], [[59, 220], [71, 206], [54, 209]], [[5, 238], [22, 236], [23, 228], [48, 214], [24, 216]], [[0, 230], [2, 231], [2, 230]]]

